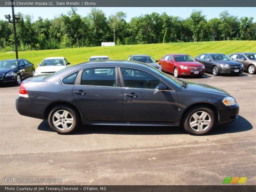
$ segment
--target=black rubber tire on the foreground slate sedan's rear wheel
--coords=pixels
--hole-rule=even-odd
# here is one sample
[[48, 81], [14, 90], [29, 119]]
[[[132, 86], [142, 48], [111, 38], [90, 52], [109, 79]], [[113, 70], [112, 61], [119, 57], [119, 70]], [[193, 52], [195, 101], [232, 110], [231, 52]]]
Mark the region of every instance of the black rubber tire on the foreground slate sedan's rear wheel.
[[[55, 116], [53, 118], [53, 115], [55, 114], [55, 112], [57, 112], [58, 114], [61, 114], [61, 111], [67, 111], [69, 113], [67, 115], [66, 119], [65, 119], [64, 116], [60, 117], [60, 119], [56, 118]], [[63, 113], [62, 113], [62, 115], [63, 115]], [[66, 121], [70, 121], [70, 119], [71, 119], [70, 117], [73, 118], [73, 123], [72, 124], [71, 123], [66, 123]], [[60, 122], [61, 126], [58, 125], [59, 128], [57, 128], [53, 124], [53, 120], [58, 121], [58, 123]], [[68, 127], [68, 129], [65, 130], [62, 123], [64, 125], [66, 125], [66, 128]], [[49, 113], [49, 116], [48, 116], [48, 124], [50, 125], [51, 129], [53, 131], [57, 132], [57, 133], [70, 134], [70, 133], [76, 131], [76, 129], [80, 126], [81, 120], [80, 120], [80, 115], [76, 112], [76, 110], [74, 110], [73, 108], [71, 108], [69, 106], [59, 105], [59, 106], [56, 106], [56, 107], [54, 107], [50, 110], [50, 113]]]

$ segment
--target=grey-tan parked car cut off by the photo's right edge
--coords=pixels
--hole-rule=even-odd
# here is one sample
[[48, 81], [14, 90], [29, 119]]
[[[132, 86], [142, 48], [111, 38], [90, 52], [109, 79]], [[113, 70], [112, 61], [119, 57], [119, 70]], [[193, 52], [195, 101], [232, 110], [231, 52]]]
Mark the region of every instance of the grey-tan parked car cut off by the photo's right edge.
[[244, 70], [248, 73], [256, 73], [256, 53], [233, 53], [229, 57], [234, 61], [243, 63]]

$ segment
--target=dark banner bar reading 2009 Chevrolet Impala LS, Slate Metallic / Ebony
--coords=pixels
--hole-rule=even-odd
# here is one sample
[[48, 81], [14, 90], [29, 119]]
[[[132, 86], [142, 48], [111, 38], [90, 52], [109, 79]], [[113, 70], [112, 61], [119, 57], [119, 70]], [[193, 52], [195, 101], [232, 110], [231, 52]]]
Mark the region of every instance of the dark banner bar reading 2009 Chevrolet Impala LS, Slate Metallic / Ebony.
[[[0, 7], [10, 7], [1, 0]], [[15, 7], [255, 7], [255, 0], [14, 0]]]

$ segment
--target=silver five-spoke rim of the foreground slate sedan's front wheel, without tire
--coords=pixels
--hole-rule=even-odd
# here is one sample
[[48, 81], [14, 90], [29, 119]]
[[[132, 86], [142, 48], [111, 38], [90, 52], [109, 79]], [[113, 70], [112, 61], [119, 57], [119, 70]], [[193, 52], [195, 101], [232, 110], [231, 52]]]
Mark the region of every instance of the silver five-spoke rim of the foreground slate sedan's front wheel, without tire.
[[211, 125], [211, 117], [205, 111], [195, 112], [189, 119], [189, 126], [196, 132], [202, 132]]

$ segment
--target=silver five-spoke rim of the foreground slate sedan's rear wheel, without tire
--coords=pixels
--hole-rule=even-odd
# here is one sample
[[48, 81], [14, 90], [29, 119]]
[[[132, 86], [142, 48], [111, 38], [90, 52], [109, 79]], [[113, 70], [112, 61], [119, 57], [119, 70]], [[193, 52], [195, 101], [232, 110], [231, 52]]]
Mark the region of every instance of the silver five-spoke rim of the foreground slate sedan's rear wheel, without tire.
[[52, 123], [57, 129], [66, 131], [74, 124], [74, 118], [68, 111], [58, 110], [52, 116]]

